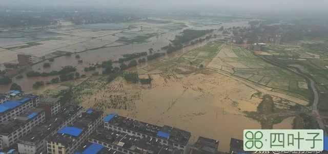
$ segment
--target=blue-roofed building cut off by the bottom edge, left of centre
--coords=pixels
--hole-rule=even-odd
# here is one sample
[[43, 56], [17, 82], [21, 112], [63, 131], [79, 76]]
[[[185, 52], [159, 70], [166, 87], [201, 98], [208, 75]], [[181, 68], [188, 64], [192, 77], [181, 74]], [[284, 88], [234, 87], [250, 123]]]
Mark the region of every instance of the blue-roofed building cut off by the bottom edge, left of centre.
[[111, 148], [106, 148], [104, 145], [97, 143], [86, 143], [82, 148], [78, 151], [74, 152], [74, 154], [124, 154], [119, 151], [115, 151]]

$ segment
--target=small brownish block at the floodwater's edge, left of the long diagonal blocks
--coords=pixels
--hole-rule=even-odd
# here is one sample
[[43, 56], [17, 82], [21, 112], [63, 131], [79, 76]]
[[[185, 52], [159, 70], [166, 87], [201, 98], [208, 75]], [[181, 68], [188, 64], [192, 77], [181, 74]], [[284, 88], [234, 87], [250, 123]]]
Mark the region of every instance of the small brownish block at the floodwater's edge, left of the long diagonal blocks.
[[40, 99], [39, 108], [45, 109], [46, 119], [49, 119], [60, 111], [59, 99], [51, 97]]

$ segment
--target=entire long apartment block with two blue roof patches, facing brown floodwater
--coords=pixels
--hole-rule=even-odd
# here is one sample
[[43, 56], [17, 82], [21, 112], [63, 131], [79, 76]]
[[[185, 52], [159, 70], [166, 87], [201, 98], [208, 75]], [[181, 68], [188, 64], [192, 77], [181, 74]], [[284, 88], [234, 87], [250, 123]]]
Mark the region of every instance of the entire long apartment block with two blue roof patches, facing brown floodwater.
[[184, 153], [190, 149], [191, 133], [175, 127], [156, 126], [122, 117], [115, 113], [105, 117], [104, 127], [139, 138], [158, 140], [161, 144], [181, 149]]

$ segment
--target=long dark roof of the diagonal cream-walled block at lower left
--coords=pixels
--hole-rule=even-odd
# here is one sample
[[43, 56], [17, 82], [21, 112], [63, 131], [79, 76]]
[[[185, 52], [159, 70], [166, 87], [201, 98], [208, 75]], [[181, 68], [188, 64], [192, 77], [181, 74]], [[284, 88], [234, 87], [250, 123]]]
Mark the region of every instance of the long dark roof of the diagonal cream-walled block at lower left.
[[46, 137], [52, 134], [61, 124], [67, 121], [67, 119], [71, 118], [80, 109], [82, 109], [82, 107], [77, 105], [70, 105], [65, 107], [55, 117], [48, 119], [43, 125], [32, 129], [30, 134], [21, 138], [19, 141], [31, 143], [38, 143], [40, 141], [43, 141]]

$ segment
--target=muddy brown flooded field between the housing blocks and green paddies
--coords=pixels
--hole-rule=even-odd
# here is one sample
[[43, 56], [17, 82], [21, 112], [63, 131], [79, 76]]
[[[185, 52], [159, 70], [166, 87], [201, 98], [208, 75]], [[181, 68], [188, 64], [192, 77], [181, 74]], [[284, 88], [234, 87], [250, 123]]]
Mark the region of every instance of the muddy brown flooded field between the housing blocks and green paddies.
[[[265, 114], [273, 121], [263, 123], [257, 115], [261, 115], [258, 105], [266, 93], [206, 68], [226, 47], [229, 46], [220, 42], [209, 43], [191, 51], [160, 57], [157, 62], [149, 61], [147, 65], [130, 70], [137, 71], [139, 78], [148, 78], [149, 75], [153, 79], [151, 84], [130, 83], [122, 77], [111, 81], [110, 75], [101, 75], [72, 84], [62, 83], [53, 90], [40, 93], [53, 96], [60, 92], [59, 88], [67, 86], [67, 92], [71, 94], [69, 104], [100, 108], [105, 114], [115, 112], [152, 124], [173, 125], [191, 131], [193, 138], [218, 139], [220, 149], [229, 151], [230, 138], [242, 139], [243, 129], [276, 127], [275, 124], [283, 119], [298, 114], [277, 113], [290, 111], [291, 106], [300, 102], [270, 96], [276, 113]], [[278, 127], [291, 129], [292, 125], [285, 122]]]

